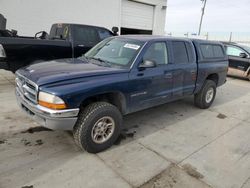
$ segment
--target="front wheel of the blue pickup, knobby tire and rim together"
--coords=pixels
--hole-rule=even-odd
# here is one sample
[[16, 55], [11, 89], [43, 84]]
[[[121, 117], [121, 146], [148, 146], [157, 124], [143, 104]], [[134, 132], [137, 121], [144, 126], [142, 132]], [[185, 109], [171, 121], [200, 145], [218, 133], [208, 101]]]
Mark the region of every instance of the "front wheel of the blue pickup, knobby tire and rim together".
[[79, 113], [73, 130], [76, 144], [90, 152], [97, 153], [113, 145], [122, 125], [122, 115], [112, 104], [96, 102]]

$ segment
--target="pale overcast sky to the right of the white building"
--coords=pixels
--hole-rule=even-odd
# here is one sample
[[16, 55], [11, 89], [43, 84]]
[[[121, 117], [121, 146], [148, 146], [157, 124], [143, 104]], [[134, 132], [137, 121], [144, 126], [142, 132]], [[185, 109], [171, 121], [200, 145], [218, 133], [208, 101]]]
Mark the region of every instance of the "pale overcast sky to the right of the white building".
[[[198, 32], [200, 0], [168, 0], [166, 31]], [[203, 32], [250, 32], [250, 0], [207, 0]]]

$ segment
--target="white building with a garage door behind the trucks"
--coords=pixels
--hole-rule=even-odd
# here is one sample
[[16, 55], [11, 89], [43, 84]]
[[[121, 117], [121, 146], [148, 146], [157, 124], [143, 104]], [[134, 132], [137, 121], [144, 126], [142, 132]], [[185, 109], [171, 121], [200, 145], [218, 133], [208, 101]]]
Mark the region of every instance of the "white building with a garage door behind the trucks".
[[0, 0], [7, 29], [33, 36], [53, 23], [119, 27], [121, 34], [164, 34], [167, 0]]

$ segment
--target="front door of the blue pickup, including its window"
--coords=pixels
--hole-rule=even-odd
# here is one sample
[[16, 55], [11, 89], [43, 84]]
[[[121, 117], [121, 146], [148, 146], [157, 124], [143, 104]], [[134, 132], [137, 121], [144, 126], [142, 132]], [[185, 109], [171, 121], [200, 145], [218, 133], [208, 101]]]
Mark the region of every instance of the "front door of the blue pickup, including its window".
[[[140, 68], [144, 61], [155, 62], [155, 67]], [[156, 106], [171, 98], [172, 73], [167, 71], [168, 48], [165, 41], [149, 45], [138, 67], [130, 73], [130, 111]]]

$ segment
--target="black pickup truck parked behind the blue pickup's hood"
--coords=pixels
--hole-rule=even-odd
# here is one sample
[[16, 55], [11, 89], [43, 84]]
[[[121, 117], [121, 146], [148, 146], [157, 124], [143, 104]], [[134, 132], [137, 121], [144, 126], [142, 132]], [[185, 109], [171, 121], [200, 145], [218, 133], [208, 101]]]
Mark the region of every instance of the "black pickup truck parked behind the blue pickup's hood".
[[49, 34], [41, 31], [34, 37], [6, 37], [11, 33], [2, 31], [5, 36], [0, 37], [0, 68], [12, 72], [34, 62], [79, 57], [103, 39], [116, 35], [103, 27], [66, 23], [53, 24]]

